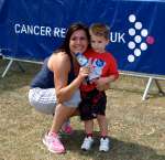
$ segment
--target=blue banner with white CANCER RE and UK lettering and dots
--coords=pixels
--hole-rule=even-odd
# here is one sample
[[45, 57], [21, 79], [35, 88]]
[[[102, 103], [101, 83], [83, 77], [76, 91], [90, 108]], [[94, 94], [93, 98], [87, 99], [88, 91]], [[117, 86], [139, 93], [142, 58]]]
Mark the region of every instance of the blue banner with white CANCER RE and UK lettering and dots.
[[165, 75], [164, 0], [0, 0], [0, 49], [43, 61], [73, 22], [111, 28], [108, 51], [119, 70]]

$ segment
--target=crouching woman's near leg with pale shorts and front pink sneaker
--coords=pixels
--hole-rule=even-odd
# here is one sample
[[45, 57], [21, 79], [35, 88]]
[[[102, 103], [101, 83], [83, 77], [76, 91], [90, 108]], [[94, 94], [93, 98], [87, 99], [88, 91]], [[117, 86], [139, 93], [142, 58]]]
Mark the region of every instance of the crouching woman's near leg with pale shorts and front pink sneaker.
[[62, 125], [74, 115], [80, 102], [79, 90], [75, 92], [73, 97], [65, 102], [64, 105], [57, 104], [55, 88], [42, 89], [33, 88], [29, 93], [29, 100], [36, 110], [44, 114], [55, 114], [50, 132], [43, 138], [44, 145], [51, 152], [62, 153], [65, 151], [63, 143], [58, 138], [58, 131]]

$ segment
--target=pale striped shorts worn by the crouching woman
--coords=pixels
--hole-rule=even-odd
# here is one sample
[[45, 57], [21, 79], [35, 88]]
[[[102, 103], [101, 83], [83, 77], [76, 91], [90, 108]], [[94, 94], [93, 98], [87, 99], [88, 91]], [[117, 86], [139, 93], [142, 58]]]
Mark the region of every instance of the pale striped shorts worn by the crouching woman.
[[[29, 102], [36, 110], [47, 115], [53, 115], [57, 105], [55, 88], [31, 88], [29, 92]], [[77, 89], [72, 98], [64, 102], [63, 105], [66, 107], [77, 108], [80, 102], [80, 92]]]

